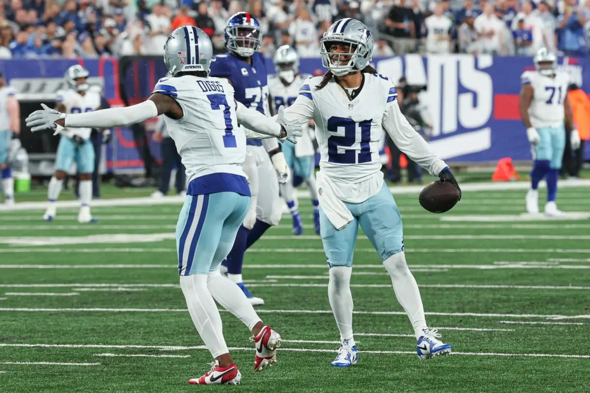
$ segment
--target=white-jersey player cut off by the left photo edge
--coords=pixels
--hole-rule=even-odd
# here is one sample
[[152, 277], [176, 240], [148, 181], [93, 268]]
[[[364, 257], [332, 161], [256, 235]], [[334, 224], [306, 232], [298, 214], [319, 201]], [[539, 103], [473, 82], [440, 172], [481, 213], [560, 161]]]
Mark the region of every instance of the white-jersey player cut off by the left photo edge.
[[8, 166], [8, 152], [12, 134], [21, 131], [20, 107], [14, 88], [6, 85], [4, 75], [0, 74], [0, 172], [2, 173], [2, 190], [6, 206], [14, 204], [14, 179]]

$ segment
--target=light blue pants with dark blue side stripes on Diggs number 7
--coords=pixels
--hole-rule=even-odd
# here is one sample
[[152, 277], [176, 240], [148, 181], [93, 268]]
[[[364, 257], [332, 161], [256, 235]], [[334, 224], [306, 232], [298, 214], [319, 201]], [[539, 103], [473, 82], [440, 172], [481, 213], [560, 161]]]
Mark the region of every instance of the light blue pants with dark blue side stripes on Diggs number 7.
[[248, 207], [250, 197], [234, 192], [187, 195], [176, 224], [179, 275], [218, 270], [234, 245]]

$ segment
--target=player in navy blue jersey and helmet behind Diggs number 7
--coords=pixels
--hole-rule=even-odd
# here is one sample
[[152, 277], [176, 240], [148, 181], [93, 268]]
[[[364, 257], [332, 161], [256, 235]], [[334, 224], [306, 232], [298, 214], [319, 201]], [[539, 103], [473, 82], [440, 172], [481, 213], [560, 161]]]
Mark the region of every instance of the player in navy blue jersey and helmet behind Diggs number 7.
[[[211, 76], [227, 78], [234, 87], [235, 100], [269, 115], [266, 62], [257, 52], [260, 42], [260, 25], [254, 16], [248, 12], [231, 16], [225, 27], [228, 52], [213, 59]], [[242, 288], [251, 303], [260, 305], [264, 300], [254, 298], [242, 280], [244, 253], [269, 227], [280, 221], [283, 205], [278, 182], [285, 183], [289, 179], [289, 167], [276, 140], [248, 140], [247, 150], [244, 171], [248, 175], [252, 202], [224, 266], [228, 278]]]

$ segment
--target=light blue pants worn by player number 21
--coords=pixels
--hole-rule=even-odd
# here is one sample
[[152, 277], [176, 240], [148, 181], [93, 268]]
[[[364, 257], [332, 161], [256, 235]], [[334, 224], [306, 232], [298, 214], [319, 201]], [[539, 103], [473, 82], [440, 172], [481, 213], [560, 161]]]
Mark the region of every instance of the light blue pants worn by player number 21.
[[404, 250], [402, 218], [385, 183], [378, 193], [365, 202], [345, 202], [345, 205], [353, 219], [341, 230], [336, 230], [320, 205], [320, 235], [330, 267], [352, 266], [359, 224], [371, 240], [381, 262]]

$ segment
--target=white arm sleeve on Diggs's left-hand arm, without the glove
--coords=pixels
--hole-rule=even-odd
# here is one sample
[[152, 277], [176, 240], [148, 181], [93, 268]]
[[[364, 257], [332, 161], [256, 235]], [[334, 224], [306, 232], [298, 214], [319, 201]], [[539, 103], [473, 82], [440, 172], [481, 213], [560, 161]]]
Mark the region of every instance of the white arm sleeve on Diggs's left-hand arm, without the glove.
[[65, 115], [65, 127], [110, 128], [129, 126], [158, 116], [158, 108], [151, 100], [124, 108]]

